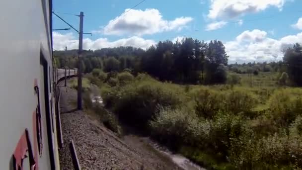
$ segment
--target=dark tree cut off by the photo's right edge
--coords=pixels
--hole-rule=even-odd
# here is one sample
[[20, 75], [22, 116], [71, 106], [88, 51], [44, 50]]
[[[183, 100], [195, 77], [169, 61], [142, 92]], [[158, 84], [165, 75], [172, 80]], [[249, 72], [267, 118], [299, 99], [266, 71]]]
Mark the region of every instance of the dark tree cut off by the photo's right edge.
[[283, 61], [290, 80], [302, 86], [302, 46], [296, 43], [292, 48], [288, 48]]

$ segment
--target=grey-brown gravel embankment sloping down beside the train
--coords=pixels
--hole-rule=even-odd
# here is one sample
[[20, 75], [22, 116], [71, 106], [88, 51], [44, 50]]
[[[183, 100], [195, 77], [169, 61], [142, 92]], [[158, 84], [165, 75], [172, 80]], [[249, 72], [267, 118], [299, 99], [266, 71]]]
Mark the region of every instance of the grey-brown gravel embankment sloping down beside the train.
[[181, 170], [160, 152], [140, 147], [141, 141], [132, 145], [98, 121], [91, 120], [83, 111], [69, 112], [75, 107], [76, 91], [69, 87], [60, 87], [60, 91], [64, 139], [64, 148], [60, 150], [62, 170], [73, 170], [69, 151], [71, 139], [75, 142], [82, 170]]

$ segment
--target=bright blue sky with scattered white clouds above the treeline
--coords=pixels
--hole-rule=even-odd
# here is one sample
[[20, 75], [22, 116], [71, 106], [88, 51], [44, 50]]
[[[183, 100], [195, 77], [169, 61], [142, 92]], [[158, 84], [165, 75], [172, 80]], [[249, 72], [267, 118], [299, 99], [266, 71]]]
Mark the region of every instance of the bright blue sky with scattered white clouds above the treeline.
[[[275, 61], [302, 42], [302, 0], [54, 0], [53, 10], [78, 28], [84, 12], [84, 48], [148, 48], [160, 40], [193, 37], [224, 42], [229, 62]], [[125, 10], [129, 10], [121, 15]], [[110, 22], [110, 20], [115, 19]], [[53, 16], [53, 28], [68, 27]], [[77, 48], [77, 34], [54, 32], [54, 48]]]

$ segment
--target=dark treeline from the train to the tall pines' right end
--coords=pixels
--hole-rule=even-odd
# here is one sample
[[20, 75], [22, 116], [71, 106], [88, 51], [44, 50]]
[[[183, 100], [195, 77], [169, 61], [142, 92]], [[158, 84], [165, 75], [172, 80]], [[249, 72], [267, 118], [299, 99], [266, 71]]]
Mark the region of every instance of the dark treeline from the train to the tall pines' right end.
[[[76, 50], [55, 51], [58, 67], [74, 68]], [[214, 40], [206, 43], [185, 38], [181, 42], [163, 41], [146, 51], [133, 47], [105, 48], [85, 51], [85, 73], [93, 69], [120, 72], [128, 68], [132, 73], [148, 73], [161, 80], [184, 84], [214, 84], [226, 81], [227, 54], [224, 44]]]

